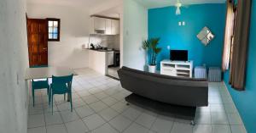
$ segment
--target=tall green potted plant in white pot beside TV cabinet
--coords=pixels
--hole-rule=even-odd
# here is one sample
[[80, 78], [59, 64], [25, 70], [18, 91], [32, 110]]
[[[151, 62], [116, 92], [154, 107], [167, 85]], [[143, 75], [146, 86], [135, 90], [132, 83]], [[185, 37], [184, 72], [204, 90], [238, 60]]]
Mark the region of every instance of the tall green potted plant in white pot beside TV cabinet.
[[143, 42], [143, 49], [150, 55], [150, 62], [148, 64], [148, 71], [155, 73], [156, 70], [156, 57], [162, 50], [162, 48], [157, 47], [160, 42], [160, 38], [151, 38]]

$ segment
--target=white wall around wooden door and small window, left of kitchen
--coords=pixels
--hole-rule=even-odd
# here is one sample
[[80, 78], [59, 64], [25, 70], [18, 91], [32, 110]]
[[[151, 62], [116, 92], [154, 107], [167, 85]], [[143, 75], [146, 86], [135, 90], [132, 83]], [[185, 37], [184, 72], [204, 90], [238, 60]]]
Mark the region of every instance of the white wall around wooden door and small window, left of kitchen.
[[82, 50], [89, 42], [89, 11], [48, 4], [27, 4], [29, 18], [61, 19], [61, 42], [49, 42], [49, 66], [88, 67], [88, 52]]

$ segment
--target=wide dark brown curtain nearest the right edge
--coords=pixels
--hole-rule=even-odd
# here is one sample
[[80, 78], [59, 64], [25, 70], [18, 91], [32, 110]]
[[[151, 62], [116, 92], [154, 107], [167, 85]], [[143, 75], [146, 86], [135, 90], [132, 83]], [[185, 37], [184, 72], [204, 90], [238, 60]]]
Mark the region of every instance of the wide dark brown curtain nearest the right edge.
[[237, 3], [234, 44], [230, 62], [230, 85], [237, 91], [245, 90], [251, 4], [252, 0], [239, 0]]

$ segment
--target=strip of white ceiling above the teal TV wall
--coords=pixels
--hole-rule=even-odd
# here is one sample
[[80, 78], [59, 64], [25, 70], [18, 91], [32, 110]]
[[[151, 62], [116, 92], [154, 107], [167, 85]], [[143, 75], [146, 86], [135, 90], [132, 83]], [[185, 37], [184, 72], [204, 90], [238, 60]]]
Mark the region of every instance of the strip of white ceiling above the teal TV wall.
[[[143, 4], [146, 8], [160, 8], [166, 6], [173, 6], [177, 0], [136, 0], [138, 3]], [[226, 0], [179, 0], [185, 5], [201, 4], [201, 3], [225, 3]]]

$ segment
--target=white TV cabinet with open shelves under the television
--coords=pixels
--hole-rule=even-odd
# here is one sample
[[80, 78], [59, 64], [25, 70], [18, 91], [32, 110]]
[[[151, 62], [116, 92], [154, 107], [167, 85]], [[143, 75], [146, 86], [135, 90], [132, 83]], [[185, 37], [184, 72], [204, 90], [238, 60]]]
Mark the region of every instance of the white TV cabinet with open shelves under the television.
[[160, 62], [160, 74], [192, 78], [193, 61], [172, 61], [165, 59]]

